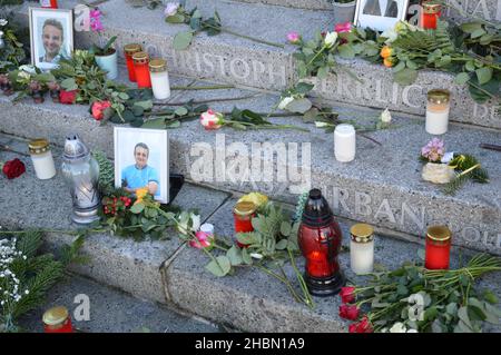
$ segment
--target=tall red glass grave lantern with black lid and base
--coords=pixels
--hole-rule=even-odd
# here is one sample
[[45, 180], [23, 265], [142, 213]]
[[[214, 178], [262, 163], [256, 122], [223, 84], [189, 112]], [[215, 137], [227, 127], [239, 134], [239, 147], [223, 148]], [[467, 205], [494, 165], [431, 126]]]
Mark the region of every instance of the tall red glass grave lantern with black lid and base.
[[335, 295], [344, 286], [340, 269], [342, 233], [321, 190], [312, 189], [305, 204], [298, 244], [306, 258], [305, 282], [316, 296]]

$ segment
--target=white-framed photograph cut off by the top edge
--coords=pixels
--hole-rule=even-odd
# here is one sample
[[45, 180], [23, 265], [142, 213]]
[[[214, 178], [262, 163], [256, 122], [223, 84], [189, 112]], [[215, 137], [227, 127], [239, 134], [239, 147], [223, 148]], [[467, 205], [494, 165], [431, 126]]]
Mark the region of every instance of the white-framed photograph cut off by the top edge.
[[405, 20], [409, 0], [357, 0], [355, 24], [385, 31]]

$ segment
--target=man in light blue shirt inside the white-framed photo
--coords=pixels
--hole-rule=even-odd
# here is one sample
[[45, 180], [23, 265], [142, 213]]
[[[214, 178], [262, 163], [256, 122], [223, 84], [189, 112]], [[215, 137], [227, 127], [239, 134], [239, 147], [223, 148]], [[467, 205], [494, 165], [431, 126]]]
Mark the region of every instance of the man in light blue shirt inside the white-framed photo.
[[135, 194], [138, 188], [148, 188], [150, 195], [160, 196], [160, 180], [158, 171], [148, 165], [149, 148], [144, 142], [134, 147], [136, 164], [121, 170], [121, 187]]

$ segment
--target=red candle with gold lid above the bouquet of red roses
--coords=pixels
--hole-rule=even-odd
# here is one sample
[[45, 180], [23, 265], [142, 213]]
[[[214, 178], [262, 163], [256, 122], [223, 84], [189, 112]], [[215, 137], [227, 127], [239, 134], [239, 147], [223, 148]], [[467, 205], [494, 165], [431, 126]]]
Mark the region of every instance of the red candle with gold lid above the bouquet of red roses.
[[446, 226], [432, 226], [426, 231], [424, 267], [449, 269], [451, 258], [451, 230]]

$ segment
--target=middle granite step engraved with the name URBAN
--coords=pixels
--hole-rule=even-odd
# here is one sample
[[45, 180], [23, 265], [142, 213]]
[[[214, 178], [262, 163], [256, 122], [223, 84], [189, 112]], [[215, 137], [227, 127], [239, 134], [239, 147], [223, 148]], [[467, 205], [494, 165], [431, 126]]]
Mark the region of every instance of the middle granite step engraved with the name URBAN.
[[[179, 82], [183, 80], [186, 79], [179, 79]], [[178, 81], [173, 78], [173, 82]], [[249, 93], [256, 97], [214, 103], [213, 107], [229, 111], [236, 105], [242, 109], [266, 112], [277, 100], [276, 95], [243, 89], [177, 95], [181, 100], [200, 100]], [[55, 144], [62, 144], [66, 135], [78, 132], [90, 147], [102, 149], [110, 157], [114, 155], [112, 125], [100, 126], [89, 117], [87, 107], [51, 102], [36, 105], [30, 100], [12, 105], [10, 99], [0, 97], [0, 129], [3, 132], [22, 137], [42, 136]], [[342, 119], [365, 125], [380, 114], [379, 110], [350, 107], [335, 106], [334, 109]], [[170, 168], [197, 184], [236, 191], [261, 190], [288, 203], [295, 203], [297, 194], [310, 186], [320, 187], [338, 216], [412, 234], [416, 240], [423, 238], [426, 226], [446, 224], [454, 231], [456, 245], [501, 255], [500, 154], [479, 147], [482, 142], [499, 144], [499, 131], [451, 124], [450, 131], [443, 136], [448, 149], [477, 156], [491, 177], [490, 184], [468, 183], [451, 197], [443, 195], [436, 185], [421, 179], [422, 166], [418, 156], [421, 147], [432, 138], [425, 132], [422, 118], [394, 115], [393, 129], [369, 134], [381, 146], [358, 137], [357, 156], [350, 164], [335, 160], [332, 134], [326, 135], [298, 118], [272, 120], [294, 124], [311, 132], [243, 132], [226, 128], [205, 131], [197, 121], [185, 122], [181, 128], [169, 131]], [[266, 142], [268, 145], [264, 145]], [[242, 160], [235, 158], [237, 152]], [[204, 164], [207, 164], [207, 170], [200, 172]], [[235, 164], [248, 175], [234, 174], [238, 172]], [[266, 174], [265, 168], [269, 168]]]

